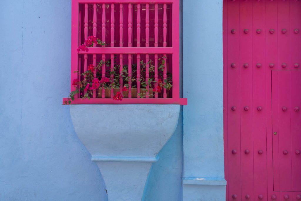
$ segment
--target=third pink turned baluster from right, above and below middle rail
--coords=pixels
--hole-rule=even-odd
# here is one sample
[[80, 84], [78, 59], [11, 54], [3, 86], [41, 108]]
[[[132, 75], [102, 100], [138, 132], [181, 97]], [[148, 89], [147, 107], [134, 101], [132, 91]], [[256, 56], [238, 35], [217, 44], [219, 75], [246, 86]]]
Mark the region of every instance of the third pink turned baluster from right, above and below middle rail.
[[[146, 4], [145, 6], [146, 8], [146, 16], [145, 16], [145, 47], [149, 47], [150, 46], [150, 43], [149, 43], [149, 35], [150, 35], [150, 15], [149, 15], [149, 10], [150, 10], [150, 5], [149, 4]], [[150, 77], [149, 75], [149, 55], [146, 54], [145, 55], [145, 59], [146, 59], [146, 68], [145, 68], [145, 71], [146, 71], [146, 75], [145, 75], [145, 81], [146, 81], [146, 98], [149, 98], [149, 91], [148, 91], [148, 79]]]

